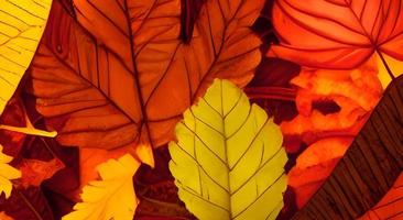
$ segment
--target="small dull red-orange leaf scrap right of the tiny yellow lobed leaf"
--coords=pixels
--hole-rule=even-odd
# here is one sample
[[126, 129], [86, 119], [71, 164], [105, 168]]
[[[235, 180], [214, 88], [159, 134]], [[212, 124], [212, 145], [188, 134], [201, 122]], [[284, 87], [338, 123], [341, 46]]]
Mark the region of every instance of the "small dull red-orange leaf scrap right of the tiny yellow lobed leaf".
[[23, 160], [20, 165], [21, 185], [25, 188], [40, 186], [43, 180], [51, 178], [55, 173], [63, 169], [62, 161], [53, 158], [48, 162], [40, 160]]

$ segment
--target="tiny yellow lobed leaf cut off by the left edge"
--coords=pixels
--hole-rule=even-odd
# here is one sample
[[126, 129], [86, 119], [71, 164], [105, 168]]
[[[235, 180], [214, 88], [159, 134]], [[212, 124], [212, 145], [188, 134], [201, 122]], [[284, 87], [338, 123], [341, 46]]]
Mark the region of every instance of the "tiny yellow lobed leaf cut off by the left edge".
[[2, 151], [3, 146], [0, 144], [0, 195], [4, 193], [6, 198], [9, 198], [12, 190], [10, 180], [20, 178], [21, 172], [8, 164], [13, 157], [3, 154]]

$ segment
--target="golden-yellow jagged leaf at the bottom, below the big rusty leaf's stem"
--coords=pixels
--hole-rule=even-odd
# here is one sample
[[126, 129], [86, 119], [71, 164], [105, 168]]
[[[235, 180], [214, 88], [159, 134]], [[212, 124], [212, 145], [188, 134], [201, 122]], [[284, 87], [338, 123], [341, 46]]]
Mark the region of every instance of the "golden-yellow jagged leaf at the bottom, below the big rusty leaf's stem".
[[132, 220], [138, 205], [132, 178], [139, 166], [130, 154], [100, 164], [101, 180], [83, 188], [83, 201], [63, 220]]

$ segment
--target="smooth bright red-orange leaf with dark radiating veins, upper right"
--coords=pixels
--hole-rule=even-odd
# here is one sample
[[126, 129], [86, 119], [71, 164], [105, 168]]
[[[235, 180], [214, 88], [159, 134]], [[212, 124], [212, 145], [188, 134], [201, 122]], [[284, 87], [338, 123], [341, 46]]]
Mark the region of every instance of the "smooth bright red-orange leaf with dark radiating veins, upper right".
[[276, 0], [272, 54], [316, 68], [355, 68], [374, 52], [403, 59], [401, 0]]

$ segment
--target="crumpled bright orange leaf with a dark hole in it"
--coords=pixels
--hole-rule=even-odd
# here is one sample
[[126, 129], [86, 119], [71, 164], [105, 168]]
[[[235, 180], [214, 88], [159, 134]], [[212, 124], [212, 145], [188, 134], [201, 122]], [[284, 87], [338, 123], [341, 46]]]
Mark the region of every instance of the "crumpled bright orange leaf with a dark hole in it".
[[[356, 135], [377, 106], [382, 86], [374, 59], [351, 70], [303, 69], [291, 82], [297, 87], [299, 114], [281, 124], [285, 135], [303, 135], [312, 143], [320, 136]], [[340, 109], [323, 113], [315, 101], [331, 100]]]

